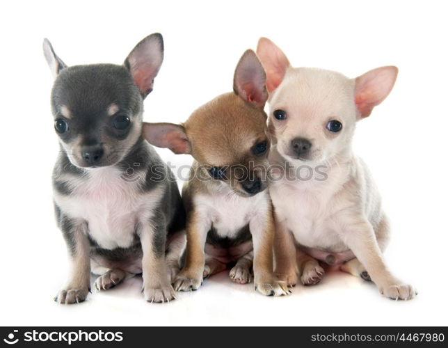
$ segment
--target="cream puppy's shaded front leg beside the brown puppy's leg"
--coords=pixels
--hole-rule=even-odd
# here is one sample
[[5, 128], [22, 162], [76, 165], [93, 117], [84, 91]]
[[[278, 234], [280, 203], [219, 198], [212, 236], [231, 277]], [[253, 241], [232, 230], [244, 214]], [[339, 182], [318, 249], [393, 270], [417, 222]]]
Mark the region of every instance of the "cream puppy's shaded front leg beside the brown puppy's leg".
[[274, 258], [275, 275], [286, 282], [289, 287], [298, 281], [298, 264], [296, 262], [296, 242], [278, 216], [275, 219]]

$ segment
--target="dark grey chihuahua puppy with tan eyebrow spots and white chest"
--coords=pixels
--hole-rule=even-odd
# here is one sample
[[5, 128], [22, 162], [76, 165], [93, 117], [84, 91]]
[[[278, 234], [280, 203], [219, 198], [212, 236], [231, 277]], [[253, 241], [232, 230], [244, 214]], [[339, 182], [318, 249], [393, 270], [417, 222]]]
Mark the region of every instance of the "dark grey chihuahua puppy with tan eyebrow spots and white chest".
[[61, 145], [56, 220], [72, 261], [55, 301], [84, 301], [90, 271], [100, 275], [97, 290], [143, 274], [146, 301], [174, 299], [169, 274], [178, 271], [184, 247], [184, 207], [173, 173], [141, 136], [162, 36], [139, 42], [124, 65], [67, 67], [48, 40], [44, 53], [55, 77], [51, 110]]

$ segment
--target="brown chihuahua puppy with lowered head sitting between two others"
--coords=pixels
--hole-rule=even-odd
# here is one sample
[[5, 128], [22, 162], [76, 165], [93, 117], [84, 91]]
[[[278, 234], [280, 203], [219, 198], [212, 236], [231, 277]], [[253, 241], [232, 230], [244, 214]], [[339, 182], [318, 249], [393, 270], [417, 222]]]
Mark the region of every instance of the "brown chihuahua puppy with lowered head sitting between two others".
[[196, 290], [203, 278], [236, 262], [234, 282], [250, 282], [253, 266], [259, 292], [289, 293], [273, 274], [273, 215], [262, 178], [269, 153], [265, 84], [263, 67], [248, 50], [234, 72], [234, 92], [201, 106], [184, 125], [143, 125], [153, 145], [195, 159], [182, 190], [187, 246], [175, 290]]

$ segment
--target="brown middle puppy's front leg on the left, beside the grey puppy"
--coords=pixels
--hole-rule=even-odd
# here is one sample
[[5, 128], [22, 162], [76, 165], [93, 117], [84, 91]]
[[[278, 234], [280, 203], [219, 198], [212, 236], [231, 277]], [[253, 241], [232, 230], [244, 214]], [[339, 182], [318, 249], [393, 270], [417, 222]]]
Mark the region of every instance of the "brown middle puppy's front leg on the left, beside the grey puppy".
[[202, 285], [205, 267], [205, 240], [211, 228], [211, 221], [196, 212], [190, 212], [186, 221], [185, 267], [174, 280], [176, 291], [198, 290]]

